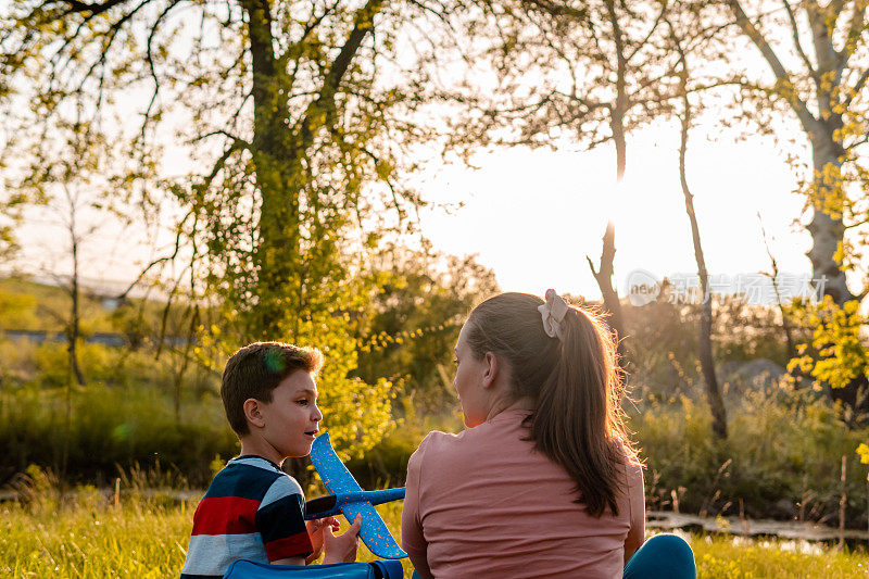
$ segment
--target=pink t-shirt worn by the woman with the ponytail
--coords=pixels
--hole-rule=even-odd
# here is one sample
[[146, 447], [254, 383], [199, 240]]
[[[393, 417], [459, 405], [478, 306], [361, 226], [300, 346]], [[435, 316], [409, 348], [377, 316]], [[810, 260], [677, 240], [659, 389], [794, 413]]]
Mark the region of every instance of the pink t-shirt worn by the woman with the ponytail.
[[436, 578], [621, 577], [626, 546], [643, 542], [642, 467], [625, 467], [618, 516], [592, 517], [564, 468], [521, 440], [527, 415], [426, 437], [407, 465], [404, 550]]

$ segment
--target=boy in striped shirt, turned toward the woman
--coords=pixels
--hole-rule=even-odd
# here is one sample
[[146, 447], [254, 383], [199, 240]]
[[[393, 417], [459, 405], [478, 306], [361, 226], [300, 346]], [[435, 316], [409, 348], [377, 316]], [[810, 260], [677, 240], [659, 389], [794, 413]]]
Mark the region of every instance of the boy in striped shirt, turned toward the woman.
[[339, 537], [332, 517], [306, 525], [302, 489], [279, 467], [311, 452], [323, 419], [314, 381], [322, 366], [318, 350], [279, 342], [252, 343], [226, 363], [221, 398], [241, 455], [197, 507], [181, 579], [221, 578], [241, 558], [305, 565], [324, 549], [324, 563], [356, 559], [358, 517]]

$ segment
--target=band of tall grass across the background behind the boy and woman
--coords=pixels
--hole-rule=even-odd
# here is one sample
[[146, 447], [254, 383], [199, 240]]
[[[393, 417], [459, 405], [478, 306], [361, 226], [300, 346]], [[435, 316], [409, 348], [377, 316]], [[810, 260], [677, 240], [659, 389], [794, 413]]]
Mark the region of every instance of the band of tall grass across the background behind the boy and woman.
[[[869, 429], [848, 429], [839, 413], [811, 391], [773, 389], [745, 394], [730, 411], [730, 439], [710, 438], [706, 404], [693, 397], [638, 397], [629, 428], [646, 460], [650, 509], [837, 523], [841, 457], [846, 457], [846, 517], [864, 528], [866, 467], [855, 453]], [[111, 484], [123, 469], [158, 465], [192, 488], [211, 479], [215, 456], [226, 460], [238, 444], [219, 398], [190, 389], [176, 419], [172, 397], [153, 387], [91, 385], [73, 394], [65, 421], [65, 390], [25, 386], [0, 391], [0, 483], [30, 464], [67, 480]], [[461, 419], [416, 416], [364, 460], [350, 464], [368, 488], [401, 484], [407, 458], [431, 429], [457, 431]], [[328, 420], [328, 415], [327, 415]], [[64, 453], [65, 451], [65, 453]]]

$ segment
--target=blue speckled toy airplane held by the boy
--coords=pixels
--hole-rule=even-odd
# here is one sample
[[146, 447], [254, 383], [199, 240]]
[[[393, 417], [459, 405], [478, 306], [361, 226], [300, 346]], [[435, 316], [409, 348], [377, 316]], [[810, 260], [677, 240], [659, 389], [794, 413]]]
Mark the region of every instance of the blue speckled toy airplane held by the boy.
[[332, 494], [307, 501], [305, 503], [306, 519], [328, 517], [340, 512], [352, 523], [356, 515], [362, 515], [360, 538], [371, 553], [378, 557], [393, 559], [407, 556], [374, 508], [374, 505], [404, 499], [404, 487], [382, 491], [363, 491], [335, 453], [328, 433], [320, 435], [314, 440], [314, 445], [311, 448], [311, 462], [314, 463], [319, 478]]

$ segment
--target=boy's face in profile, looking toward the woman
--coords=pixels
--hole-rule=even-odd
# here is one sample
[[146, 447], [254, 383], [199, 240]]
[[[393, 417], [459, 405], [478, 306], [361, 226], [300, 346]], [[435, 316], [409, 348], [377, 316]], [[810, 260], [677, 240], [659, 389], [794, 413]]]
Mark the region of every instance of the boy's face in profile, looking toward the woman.
[[317, 385], [305, 370], [297, 370], [272, 391], [272, 402], [260, 403], [265, 425], [263, 439], [286, 458], [306, 456], [319, 430], [323, 413], [317, 407]]

